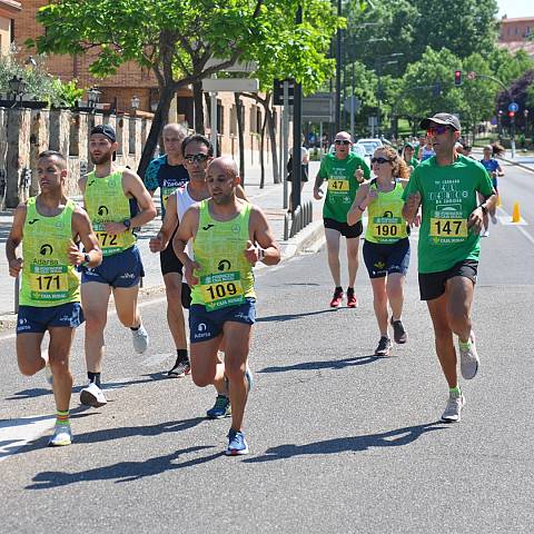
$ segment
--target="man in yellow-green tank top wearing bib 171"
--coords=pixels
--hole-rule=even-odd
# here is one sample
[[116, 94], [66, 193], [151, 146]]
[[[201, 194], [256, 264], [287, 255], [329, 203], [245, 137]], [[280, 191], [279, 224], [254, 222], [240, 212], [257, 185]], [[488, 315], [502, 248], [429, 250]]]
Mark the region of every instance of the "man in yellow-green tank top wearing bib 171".
[[[97, 236], [87, 214], [65, 196], [67, 160], [53, 150], [37, 161], [40, 194], [14, 211], [6, 243], [9, 274], [22, 271], [17, 322], [17, 359], [20, 372], [31, 376], [43, 367], [51, 372], [57, 419], [50, 446], [70, 445], [69, 419], [72, 374], [70, 349], [75, 328], [83, 323], [80, 280], [75, 267], [97, 267], [102, 260]], [[81, 239], [86, 253], [76, 243]], [[22, 243], [22, 257], [17, 247]], [[49, 333], [48, 360], [41, 354]]]

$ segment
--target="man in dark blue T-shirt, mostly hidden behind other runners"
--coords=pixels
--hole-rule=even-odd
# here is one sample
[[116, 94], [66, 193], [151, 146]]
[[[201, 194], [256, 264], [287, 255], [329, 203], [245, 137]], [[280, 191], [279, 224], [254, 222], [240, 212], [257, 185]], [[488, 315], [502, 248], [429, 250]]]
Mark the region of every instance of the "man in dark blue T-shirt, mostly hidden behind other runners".
[[172, 241], [172, 236], [176, 231], [176, 199], [174, 201], [174, 212], [170, 214], [167, 222], [165, 217], [168, 199], [174, 198], [172, 194], [189, 181], [189, 175], [184, 166], [184, 156], [181, 154], [181, 144], [187, 137], [187, 131], [180, 125], [169, 123], [164, 128], [162, 137], [166, 154], [150, 161], [145, 174], [145, 187], [152, 197], [158, 188], [161, 194], [161, 219], [164, 222], [157, 237], [150, 240], [150, 250], [152, 253], [160, 251], [159, 263], [167, 296], [167, 323], [176, 347], [176, 362], [170, 370], [167, 372], [167, 376], [182, 377], [190, 369], [189, 356], [187, 354], [186, 325], [181, 306], [182, 293], [186, 297], [185, 301], [187, 303], [188, 300], [189, 286], [182, 284], [182, 265], [176, 257], [172, 247], [167, 246], [169, 241]]

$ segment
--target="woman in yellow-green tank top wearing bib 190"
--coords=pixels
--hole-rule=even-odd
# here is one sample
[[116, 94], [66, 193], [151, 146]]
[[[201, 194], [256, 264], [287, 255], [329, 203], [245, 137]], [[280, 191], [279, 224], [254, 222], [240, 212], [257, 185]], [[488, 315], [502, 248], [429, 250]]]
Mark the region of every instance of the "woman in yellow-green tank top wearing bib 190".
[[403, 192], [409, 179], [409, 168], [393, 147], [377, 148], [370, 162], [376, 178], [359, 187], [347, 222], [355, 225], [368, 209], [364, 260], [373, 286], [373, 304], [380, 330], [375, 354], [389, 356], [393, 343], [387, 333], [388, 301], [395, 343], [407, 342], [400, 316], [409, 264], [409, 239], [403, 219]]

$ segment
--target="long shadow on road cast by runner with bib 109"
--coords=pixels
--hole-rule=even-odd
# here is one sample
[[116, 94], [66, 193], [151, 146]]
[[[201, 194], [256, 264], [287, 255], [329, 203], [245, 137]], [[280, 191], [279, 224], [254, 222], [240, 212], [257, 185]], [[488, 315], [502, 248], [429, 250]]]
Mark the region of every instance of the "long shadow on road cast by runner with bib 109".
[[79, 482], [90, 481], [112, 481], [116, 484], [123, 482], [134, 482], [148, 476], [159, 475], [167, 471], [180, 469], [182, 467], [191, 467], [194, 465], [204, 464], [216, 459], [224, 453], [217, 453], [208, 456], [197, 457], [180, 462], [182, 456], [199, 451], [214, 448], [212, 445], [199, 445], [195, 447], [176, 451], [165, 456], [157, 456], [142, 462], [118, 462], [107, 467], [97, 467], [95, 469], [80, 471], [78, 473], [62, 473], [60, 471], [46, 471], [33, 477], [33, 484], [26, 486], [24, 490], [49, 490], [51, 487], [67, 486]]

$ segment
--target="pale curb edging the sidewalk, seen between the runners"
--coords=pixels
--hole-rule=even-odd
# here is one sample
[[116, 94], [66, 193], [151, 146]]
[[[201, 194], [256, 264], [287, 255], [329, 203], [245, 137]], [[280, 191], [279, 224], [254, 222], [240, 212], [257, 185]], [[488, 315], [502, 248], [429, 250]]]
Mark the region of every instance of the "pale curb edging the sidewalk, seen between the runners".
[[[323, 237], [323, 219], [314, 220], [308, 226], [303, 228], [298, 234], [288, 239], [287, 241], [280, 241], [281, 248], [281, 261], [286, 261], [298, 254], [313, 248]], [[260, 264], [255, 270], [264, 270], [267, 265]], [[154, 295], [165, 295], [165, 285], [159, 284], [156, 286], [141, 287], [139, 289], [140, 297], [151, 297]], [[8, 314], [0, 315], [0, 332], [14, 329], [17, 326], [17, 315]]]

